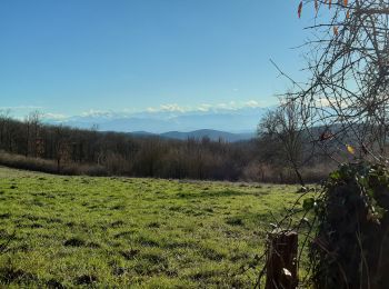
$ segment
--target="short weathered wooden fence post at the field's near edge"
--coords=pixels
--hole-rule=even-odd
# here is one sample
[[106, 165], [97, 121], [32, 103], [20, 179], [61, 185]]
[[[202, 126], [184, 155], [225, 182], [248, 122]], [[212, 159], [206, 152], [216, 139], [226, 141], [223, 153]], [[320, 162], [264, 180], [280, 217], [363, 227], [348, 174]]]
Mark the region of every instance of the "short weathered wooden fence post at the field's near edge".
[[266, 289], [297, 288], [297, 232], [277, 229], [269, 233]]

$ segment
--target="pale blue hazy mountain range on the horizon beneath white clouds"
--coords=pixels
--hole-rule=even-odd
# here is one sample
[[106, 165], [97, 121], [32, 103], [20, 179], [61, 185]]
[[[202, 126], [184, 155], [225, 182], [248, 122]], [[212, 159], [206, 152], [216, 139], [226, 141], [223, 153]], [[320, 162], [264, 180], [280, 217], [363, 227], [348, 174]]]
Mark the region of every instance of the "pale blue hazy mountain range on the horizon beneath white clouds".
[[[194, 137], [194, 131], [202, 131], [205, 128], [212, 131], [246, 133], [256, 131], [261, 117], [271, 107], [245, 107], [240, 109], [211, 109], [193, 111], [143, 111], [137, 113], [91, 113], [67, 118], [66, 120], [50, 120], [50, 123], [62, 123], [64, 126], [89, 129], [98, 127], [100, 131], [143, 131], [156, 134], [166, 133], [167, 137], [187, 138], [189, 131]], [[201, 133], [200, 133], [201, 134]], [[209, 132], [210, 136], [213, 133]], [[220, 133], [217, 133], [220, 134]], [[227, 136], [228, 139], [235, 139], [235, 136]], [[239, 138], [241, 138], [240, 136]], [[213, 139], [213, 137], [212, 137]]]

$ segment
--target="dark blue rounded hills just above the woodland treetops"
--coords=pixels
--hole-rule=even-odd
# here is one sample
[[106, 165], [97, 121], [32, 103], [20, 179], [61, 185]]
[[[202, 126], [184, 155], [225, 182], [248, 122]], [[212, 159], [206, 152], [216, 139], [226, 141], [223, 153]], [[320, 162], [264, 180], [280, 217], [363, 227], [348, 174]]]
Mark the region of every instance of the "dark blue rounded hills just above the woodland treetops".
[[241, 140], [250, 140], [256, 137], [255, 132], [246, 132], [246, 133], [232, 133], [227, 131], [219, 131], [212, 129], [200, 129], [194, 131], [181, 132], [181, 131], [168, 131], [163, 133], [151, 133], [147, 131], [133, 131], [130, 132], [133, 136], [141, 137], [150, 137], [150, 136], [159, 136], [168, 139], [178, 139], [178, 140], [187, 140], [190, 138], [193, 139], [202, 139], [208, 137], [210, 140], [218, 141], [222, 139], [228, 142], [236, 142]]

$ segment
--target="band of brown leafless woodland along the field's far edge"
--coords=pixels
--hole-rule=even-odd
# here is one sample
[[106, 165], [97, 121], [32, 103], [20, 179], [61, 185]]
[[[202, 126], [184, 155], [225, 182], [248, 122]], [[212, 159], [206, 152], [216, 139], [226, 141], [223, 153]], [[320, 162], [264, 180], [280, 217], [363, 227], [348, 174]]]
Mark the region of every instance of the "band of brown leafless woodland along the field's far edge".
[[[307, 146], [301, 139], [301, 148]], [[328, 176], [335, 165], [323, 160], [317, 153], [301, 165], [306, 181]], [[299, 182], [282, 142], [270, 133], [233, 143], [181, 141], [49, 126], [39, 113], [24, 121], [0, 116], [0, 165], [62, 175]]]

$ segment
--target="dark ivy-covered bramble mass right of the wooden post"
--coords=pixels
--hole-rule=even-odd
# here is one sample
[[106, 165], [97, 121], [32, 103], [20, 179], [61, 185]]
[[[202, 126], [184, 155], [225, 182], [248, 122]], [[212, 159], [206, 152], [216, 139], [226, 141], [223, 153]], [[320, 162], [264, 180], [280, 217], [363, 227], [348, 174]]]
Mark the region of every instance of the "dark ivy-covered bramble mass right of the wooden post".
[[310, 258], [317, 288], [385, 288], [389, 262], [389, 171], [370, 163], [331, 173], [313, 209], [318, 232]]

